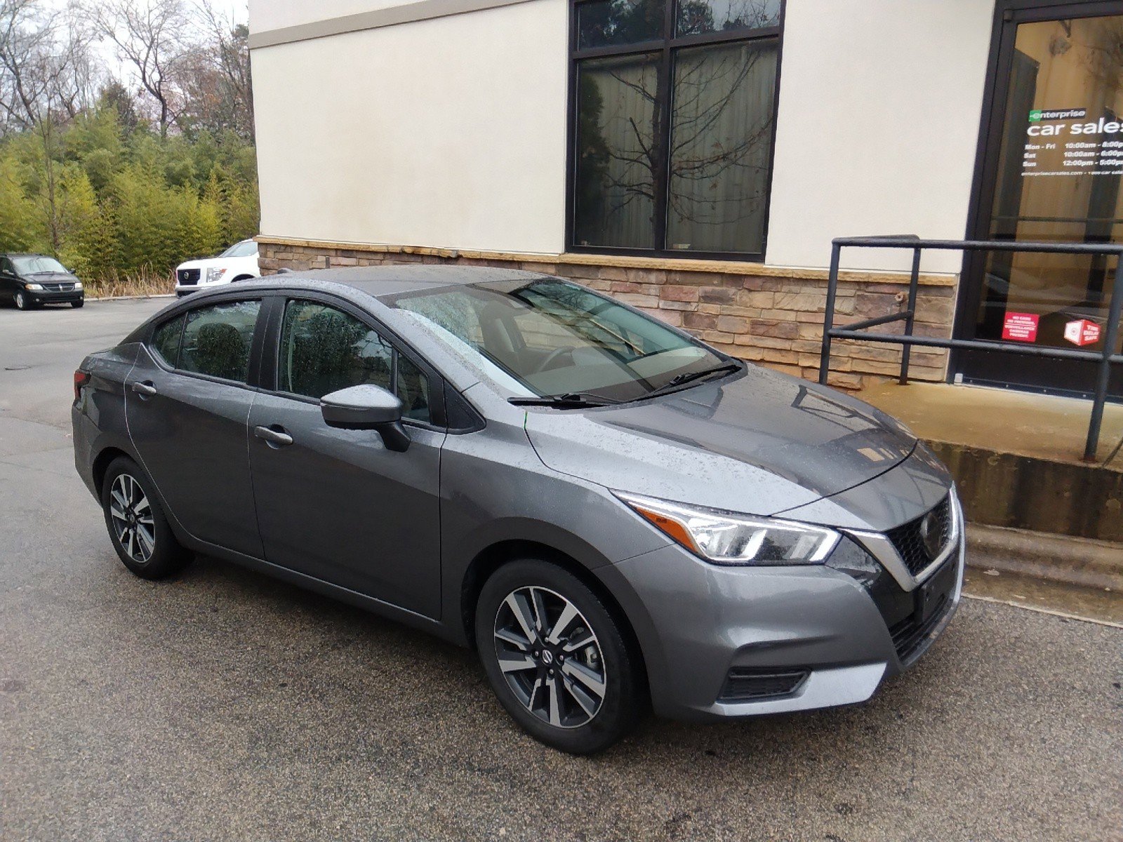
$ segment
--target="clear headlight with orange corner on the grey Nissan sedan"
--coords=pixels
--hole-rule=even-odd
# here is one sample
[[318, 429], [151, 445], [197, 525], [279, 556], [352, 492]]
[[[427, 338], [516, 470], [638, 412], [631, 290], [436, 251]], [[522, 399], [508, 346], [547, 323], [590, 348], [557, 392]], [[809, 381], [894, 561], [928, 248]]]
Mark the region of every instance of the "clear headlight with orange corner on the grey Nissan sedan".
[[795, 521], [613, 492], [667, 537], [719, 565], [821, 565], [839, 533]]

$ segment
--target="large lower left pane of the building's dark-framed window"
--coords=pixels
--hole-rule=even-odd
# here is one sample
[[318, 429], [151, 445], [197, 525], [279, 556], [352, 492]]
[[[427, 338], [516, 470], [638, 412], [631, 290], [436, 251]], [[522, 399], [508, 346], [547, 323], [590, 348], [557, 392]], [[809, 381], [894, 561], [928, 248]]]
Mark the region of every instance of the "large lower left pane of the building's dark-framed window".
[[658, 56], [582, 62], [577, 74], [574, 239], [654, 248]]

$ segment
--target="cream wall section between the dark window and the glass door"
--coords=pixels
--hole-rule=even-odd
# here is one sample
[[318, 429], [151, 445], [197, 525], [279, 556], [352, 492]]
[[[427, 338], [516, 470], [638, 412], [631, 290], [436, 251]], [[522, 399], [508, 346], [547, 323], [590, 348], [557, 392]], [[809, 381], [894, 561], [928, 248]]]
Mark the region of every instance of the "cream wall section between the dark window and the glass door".
[[[827, 266], [842, 236], [961, 239], [993, 0], [788, 0], [785, 15], [767, 263]], [[843, 251], [855, 268], [909, 259]]]

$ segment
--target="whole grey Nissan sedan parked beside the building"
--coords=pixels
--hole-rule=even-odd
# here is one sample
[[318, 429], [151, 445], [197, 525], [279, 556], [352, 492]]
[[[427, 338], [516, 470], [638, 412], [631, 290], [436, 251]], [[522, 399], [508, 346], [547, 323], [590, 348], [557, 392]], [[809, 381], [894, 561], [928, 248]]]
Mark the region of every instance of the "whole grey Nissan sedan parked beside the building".
[[530, 734], [862, 702], [959, 602], [907, 429], [557, 277], [450, 266], [201, 292], [74, 375], [121, 561], [202, 552], [475, 647]]

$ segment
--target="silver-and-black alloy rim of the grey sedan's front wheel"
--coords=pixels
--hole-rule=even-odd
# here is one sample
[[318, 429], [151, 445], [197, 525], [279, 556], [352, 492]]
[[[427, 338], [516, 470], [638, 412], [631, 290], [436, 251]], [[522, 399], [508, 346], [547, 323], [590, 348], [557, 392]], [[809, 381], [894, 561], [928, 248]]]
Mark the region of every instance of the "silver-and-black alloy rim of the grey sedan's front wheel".
[[518, 588], [500, 603], [494, 634], [503, 677], [531, 714], [556, 727], [596, 716], [608, 686], [604, 656], [577, 606], [548, 588]]

